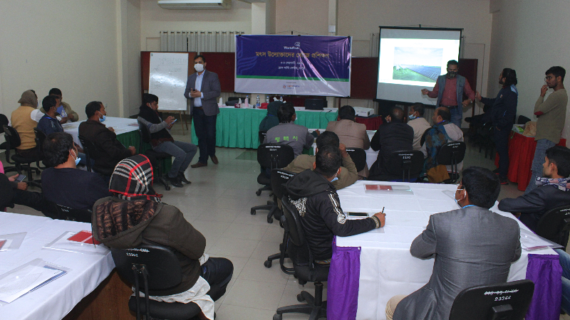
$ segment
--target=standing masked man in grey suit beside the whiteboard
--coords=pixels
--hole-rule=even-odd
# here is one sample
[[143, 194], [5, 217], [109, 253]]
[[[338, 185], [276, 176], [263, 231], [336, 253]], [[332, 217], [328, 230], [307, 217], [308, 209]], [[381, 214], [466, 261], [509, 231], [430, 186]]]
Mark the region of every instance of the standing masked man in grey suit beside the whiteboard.
[[219, 114], [217, 97], [221, 91], [218, 75], [206, 69], [203, 55], [194, 58], [196, 73], [192, 73], [186, 82], [184, 96], [190, 100], [190, 114], [194, 119], [194, 129], [198, 137], [200, 155], [192, 168], [208, 165], [208, 157], [218, 164], [216, 157], [216, 117]]

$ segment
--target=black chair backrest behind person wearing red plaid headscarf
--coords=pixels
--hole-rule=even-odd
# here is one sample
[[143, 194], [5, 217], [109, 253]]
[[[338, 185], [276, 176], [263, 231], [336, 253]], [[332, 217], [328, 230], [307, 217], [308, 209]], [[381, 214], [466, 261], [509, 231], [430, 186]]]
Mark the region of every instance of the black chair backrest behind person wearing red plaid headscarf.
[[[149, 294], [156, 290], [165, 290], [182, 282], [182, 268], [176, 255], [170, 248], [160, 245], [140, 245], [132, 249], [111, 248], [117, 272], [130, 284], [135, 284], [133, 265], [145, 266], [148, 274]], [[144, 289], [144, 282], [139, 282]]]

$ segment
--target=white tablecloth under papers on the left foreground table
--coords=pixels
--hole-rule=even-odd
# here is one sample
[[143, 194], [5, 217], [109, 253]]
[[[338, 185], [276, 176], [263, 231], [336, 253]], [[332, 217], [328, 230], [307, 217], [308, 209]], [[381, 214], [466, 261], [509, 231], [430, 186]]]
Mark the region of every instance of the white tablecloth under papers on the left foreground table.
[[0, 235], [27, 233], [18, 250], [0, 252], [0, 274], [36, 258], [71, 269], [53, 282], [0, 306], [1, 320], [60, 320], [108, 277], [115, 267], [110, 252], [107, 255], [83, 255], [41, 250], [64, 232], [81, 230], [91, 230], [90, 223], [0, 212]]

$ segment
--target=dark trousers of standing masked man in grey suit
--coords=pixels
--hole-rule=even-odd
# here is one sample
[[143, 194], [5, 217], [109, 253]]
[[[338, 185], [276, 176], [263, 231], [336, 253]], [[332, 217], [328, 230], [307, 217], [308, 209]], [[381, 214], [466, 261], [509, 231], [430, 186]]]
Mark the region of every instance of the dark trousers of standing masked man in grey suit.
[[209, 156], [216, 155], [216, 118], [217, 115], [207, 116], [204, 110], [194, 108], [192, 110], [194, 130], [198, 137], [200, 156], [198, 162], [208, 163]]

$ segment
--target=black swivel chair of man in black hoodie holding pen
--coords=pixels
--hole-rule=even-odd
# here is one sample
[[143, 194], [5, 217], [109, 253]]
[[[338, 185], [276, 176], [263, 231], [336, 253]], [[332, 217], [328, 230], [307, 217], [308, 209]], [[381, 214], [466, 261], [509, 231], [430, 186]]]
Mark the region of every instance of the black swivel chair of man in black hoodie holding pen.
[[294, 274], [299, 279], [299, 284], [315, 282], [315, 297], [309, 294], [309, 292], [302, 291], [300, 294], [297, 294], [297, 300], [299, 302], [306, 301], [306, 304], [282, 306], [277, 309], [273, 320], [281, 320], [283, 319], [282, 314], [288, 313], [311, 314], [309, 320], [324, 318], [326, 317], [326, 301], [323, 301], [322, 282], [328, 279], [329, 267], [318, 265], [314, 262], [309, 245], [305, 240], [299, 213], [286, 196], [283, 198], [283, 216], [281, 220], [289, 233], [287, 254], [293, 262]]

